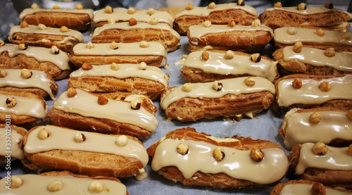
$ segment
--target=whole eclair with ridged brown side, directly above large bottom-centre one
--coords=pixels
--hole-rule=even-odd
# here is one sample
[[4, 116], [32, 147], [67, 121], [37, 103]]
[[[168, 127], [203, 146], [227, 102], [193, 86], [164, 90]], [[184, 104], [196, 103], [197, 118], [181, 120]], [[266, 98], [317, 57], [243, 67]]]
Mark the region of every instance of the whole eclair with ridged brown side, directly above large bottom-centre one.
[[240, 120], [267, 109], [274, 101], [275, 87], [262, 77], [238, 77], [206, 83], [169, 87], [161, 94], [161, 108], [168, 120], [195, 121], [201, 118]]

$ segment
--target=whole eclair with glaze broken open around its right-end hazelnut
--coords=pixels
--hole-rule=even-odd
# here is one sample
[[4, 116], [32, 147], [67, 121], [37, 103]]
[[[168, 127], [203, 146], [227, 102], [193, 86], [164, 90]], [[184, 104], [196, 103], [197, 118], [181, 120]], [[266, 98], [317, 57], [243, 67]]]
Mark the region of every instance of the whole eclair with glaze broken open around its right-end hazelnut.
[[53, 125], [61, 127], [105, 134], [127, 134], [138, 139], [145, 139], [156, 130], [156, 106], [150, 99], [138, 95], [115, 99], [120, 100], [70, 88], [54, 102], [48, 117]]

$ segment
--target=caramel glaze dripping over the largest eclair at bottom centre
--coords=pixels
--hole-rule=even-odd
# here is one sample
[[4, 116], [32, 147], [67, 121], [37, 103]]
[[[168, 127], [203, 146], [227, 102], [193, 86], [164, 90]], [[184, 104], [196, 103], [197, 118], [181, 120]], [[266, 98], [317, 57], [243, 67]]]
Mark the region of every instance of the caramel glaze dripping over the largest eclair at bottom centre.
[[[177, 153], [176, 147], [180, 143], [189, 146], [189, 153]], [[263, 161], [255, 162], [251, 159], [250, 151], [221, 146], [225, 151], [225, 158], [215, 161], [213, 150], [216, 147], [218, 146], [204, 141], [165, 139], [156, 147], [151, 168], [157, 171], [163, 167], [176, 166], [186, 179], [191, 178], [197, 171], [206, 174], [223, 172], [236, 179], [270, 184], [284, 177], [289, 165], [282, 149], [263, 149]]]

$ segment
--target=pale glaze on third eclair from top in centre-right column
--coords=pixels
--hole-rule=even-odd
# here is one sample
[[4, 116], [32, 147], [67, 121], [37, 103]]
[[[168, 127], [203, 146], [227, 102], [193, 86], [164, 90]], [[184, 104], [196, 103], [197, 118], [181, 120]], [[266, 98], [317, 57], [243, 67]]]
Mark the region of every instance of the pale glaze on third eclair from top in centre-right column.
[[191, 52], [183, 65], [191, 68], [199, 68], [204, 73], [219, 75], [244, 75], [250, 74], [257, 77], [265, 77], [271, 82], [276, 77], [276, 66], [271, 61], [262, 59], [258, 63], [251, 61], [251, 56], [235, 55], [232, 59], [225, 58], [225, 54], [211, 52], [208, 61], [201, 59], [203, 51]]

